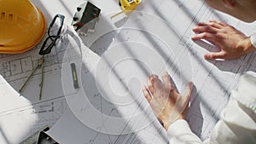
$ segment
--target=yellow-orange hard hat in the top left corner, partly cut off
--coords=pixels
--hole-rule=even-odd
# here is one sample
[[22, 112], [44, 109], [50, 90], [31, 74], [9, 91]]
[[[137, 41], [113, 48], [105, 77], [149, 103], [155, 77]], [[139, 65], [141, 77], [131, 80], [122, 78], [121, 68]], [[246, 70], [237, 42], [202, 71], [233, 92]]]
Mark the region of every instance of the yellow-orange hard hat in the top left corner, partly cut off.
[[29, 0], [0, 0], [0, 53], [22, 53], [44, 37], [44, 14]]

